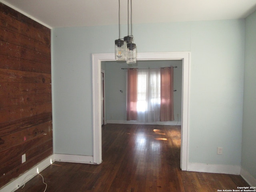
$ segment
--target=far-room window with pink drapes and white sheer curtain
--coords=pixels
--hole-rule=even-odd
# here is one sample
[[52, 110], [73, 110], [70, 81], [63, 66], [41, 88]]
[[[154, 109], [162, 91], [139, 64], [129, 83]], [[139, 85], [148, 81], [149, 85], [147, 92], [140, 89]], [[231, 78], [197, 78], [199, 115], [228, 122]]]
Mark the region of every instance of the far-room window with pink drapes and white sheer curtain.
[[127, 120], [174, 120], [173, 68], [129, 69]]

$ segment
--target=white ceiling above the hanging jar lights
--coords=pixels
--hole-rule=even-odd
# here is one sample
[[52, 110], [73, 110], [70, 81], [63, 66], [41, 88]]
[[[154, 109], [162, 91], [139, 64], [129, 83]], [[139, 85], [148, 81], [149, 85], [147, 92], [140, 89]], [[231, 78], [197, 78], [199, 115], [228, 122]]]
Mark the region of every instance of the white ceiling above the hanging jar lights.
[[[118, 24], [118, 0], [0, 0], [49, 26]], [[127, 0], [120, 0], [121, 24], [127, 24]], [[132, 21], [183, 22], [245, 18], [256, 0], [133, 0]]]

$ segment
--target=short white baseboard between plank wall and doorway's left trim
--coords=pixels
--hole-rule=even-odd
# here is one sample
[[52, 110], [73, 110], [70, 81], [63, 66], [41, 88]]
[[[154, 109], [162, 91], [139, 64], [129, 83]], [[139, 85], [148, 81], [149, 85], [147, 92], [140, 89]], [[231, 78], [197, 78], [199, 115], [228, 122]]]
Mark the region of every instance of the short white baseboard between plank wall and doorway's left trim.
[[69, 154], [54, 154], [54, 155], [55, 155], [55, 161], [94, 164], [93, 156], [69, 155]]

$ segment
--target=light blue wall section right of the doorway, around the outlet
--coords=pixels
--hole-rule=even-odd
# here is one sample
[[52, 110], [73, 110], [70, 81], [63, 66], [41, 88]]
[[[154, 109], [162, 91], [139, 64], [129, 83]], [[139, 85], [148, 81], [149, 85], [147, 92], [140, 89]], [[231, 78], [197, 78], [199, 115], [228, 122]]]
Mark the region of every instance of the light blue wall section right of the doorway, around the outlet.
[[193, 23], [191, 53], [189, 161], [240, 165], [244, 20]]

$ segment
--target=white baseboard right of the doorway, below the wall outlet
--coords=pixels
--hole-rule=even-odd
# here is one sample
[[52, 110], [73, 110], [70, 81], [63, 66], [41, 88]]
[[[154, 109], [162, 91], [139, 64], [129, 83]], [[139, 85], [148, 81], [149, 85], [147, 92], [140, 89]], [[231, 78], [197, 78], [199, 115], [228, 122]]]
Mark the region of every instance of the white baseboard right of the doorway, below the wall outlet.
[[241, 166], [188, 163], [188, 171], [240, 175]]

